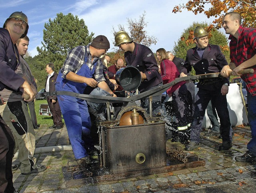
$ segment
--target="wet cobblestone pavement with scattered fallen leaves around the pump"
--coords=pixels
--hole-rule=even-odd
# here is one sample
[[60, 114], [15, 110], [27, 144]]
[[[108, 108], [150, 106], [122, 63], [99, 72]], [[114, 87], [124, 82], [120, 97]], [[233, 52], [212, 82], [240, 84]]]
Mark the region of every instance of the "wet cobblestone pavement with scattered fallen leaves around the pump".
[[[41, 125], [36, 131], [36, 147], [69, 145], [66, 127], [48, 129]], [[203, 134], [202, 134], [203, 135]], [[204, 137], [200, 146], [192, 153], [205, 159], [202, 167], [187, 168], [168, 173], [141, 176], [120, 181], [99, 184], [85, 184], [67, 188], [62, 166], [74, 159], [72, 151], [50, 151], [37, 153], [38, 163], [47, 166], [46, 171], [38, 174], [22, 175], [20, 169], [13, 172], [14, 187], [20, 193], [169, 193], [169, 192], [246, 192], [255, 193], [256, 163], [236, 162], [234, 157], [242, 155], [250, 140], [249, 127], [234, 128], [233, 147], [227, 151], [218, 151], [221, 140], [216, 137]], [[184, 148], [180, 143], [166, 143], [167, 147]], [[18, 164], [18, 159], [13, 159]]]

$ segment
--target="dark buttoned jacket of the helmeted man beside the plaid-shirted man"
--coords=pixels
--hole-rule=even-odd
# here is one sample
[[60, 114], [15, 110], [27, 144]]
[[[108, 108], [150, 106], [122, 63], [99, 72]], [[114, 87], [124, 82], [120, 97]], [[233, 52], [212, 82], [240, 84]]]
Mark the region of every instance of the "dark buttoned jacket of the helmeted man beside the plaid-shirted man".
[[[223, 66], [228, 65], [225, 56], [220, 50], [220, 46], [209, 44], [205, 48], [202, 58], [200, 58], [200, 56], [198, 55], [196, 48], [197, 47], [194, 47], [187, 51], [185, 64], [182, 66], [180, 72], [187, 74], [188, 72], [191, 72], [193, 66], [194, 70], [196, 71], [196, 75], [209, 74], [214, 72], [220, 72]], [[228, 78], [218, 79], [221, 86], [225, 83], [229, 84]], [[201, 80], [199, 81], [197, 87], [206, 90], [212, 89], [209, 85], [203, 85]]]

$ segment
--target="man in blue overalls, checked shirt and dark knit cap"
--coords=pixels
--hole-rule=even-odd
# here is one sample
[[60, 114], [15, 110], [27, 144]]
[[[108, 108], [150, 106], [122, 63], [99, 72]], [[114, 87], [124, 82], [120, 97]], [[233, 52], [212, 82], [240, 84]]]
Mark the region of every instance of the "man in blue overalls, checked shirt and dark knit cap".
[[[87, 46], [77, 46], [68, 53], [56, 80], [56, 91], [70, 91], [83, 94], [86, 86], [105, 90], [116, 96], [105, 82], [100, 56], [106, 54], [110, 44], [105, 36], [97, 36]], [[90, 115], [85, 100], [60, 95], [57, 96], [68, 137], [76, 159], [85, 163], [96, 163], [92, 152], [94, 145], [90, 136]]]

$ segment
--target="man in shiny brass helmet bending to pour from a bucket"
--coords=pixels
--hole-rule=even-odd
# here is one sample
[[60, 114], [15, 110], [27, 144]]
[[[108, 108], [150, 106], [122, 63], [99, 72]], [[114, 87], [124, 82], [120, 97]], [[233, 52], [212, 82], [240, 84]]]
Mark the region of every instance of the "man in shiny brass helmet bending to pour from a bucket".
[[[140, 71], [142, 83], [138, 90], [141, 93], [163, 85], [156, 58], [150, 48], [133, 42], [133, 39], [124, 31], [116, 33], [115, 42], [114, 46], [118, 46], [124, 51], [126, 65], [134, 66]], [[158, 113], [161, 107], [161, 97], [161, 95], [153, 97], [153, 114]], [[149, 112], [149, 99], [142, 99], [141, 106]]]

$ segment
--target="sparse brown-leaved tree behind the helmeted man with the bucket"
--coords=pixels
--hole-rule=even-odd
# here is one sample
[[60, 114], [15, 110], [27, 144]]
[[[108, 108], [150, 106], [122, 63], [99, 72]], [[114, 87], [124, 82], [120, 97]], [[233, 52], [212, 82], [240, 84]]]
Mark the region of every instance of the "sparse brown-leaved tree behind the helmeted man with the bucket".
[[[152, 44], [156, 45], [157, 38], [154, 36], [149, 36], [145, 28], [147, 27], [147, 22], [145, 21], [146, 12], [140, 16], [140, 19], [137, 21], [136, 19], [127, 18], [128, 22], [128, 30], [125, 30], [124, 26], [118, 24], [118, 31], [113, 27], [113, 35], [115, 36], [119, 31], [125, 31], [129, 34], [130, 38], [133, 39], [134, 42], [138, 44], [143, 44], [145, 46], [150, 47]], [[124, 59], [124, 52], [122, 50], [116, 49], [116, 55], [113, 60], [118, 58]]]

